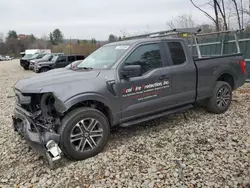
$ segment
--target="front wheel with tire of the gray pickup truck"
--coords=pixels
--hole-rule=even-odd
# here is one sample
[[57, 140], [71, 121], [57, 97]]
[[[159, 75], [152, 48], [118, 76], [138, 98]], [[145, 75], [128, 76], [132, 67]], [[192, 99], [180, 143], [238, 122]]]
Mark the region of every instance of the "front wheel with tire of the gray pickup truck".
[[[92, 119], [97, 123], [92, 121]], [[84, 124], [94, 122], [92, 125], [96, 123], [96, 127], [89, 131], [91, 129], [89, 127], [90, 124], [83, 126], [83, 122]], [[97, 127], [98, 129], [96, 129]], [[96, 136], [98, 131], [102, 131], [99, 134], [101, 137], [91, 137], [91, 135]], [[74, 136], [72, 136], [73, 133]], [[62, 119], [62, 125], [58, 129], [58, 134], [60, 135], [59, 146], [65, 156], [71, 160], [84, 160], [97, 155], [103, 150], [109, 138], [110, 125], [105, 115], [100, 111], [88, 107], [77, 108]], [[77, 134], [82, 135], [75, 136]], [[73, 140], [75, 141], [73, 142]], [[90, 143], [94, 146], [93, 148], [91, 148]]]

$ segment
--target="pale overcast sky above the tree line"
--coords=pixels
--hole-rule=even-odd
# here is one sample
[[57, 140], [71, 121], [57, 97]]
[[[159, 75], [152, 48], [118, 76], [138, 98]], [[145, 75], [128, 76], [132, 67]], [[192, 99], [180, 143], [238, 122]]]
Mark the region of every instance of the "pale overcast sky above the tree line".
[[190, 13], [197, 23], [210, 23], [189, 0], [0, 0], [0, 32], [42, 37], [58, 28], [65, 38], [106, 40], [121, 31], [168, 29], [167, 21]]

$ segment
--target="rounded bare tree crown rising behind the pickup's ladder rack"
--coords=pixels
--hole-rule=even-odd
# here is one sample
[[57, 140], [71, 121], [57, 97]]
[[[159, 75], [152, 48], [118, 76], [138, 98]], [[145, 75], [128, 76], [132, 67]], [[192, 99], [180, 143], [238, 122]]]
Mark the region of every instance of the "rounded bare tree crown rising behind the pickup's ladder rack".
[[171, 29], [174, 29], [174, 28], [195, 27], [196, 24], [191, 14], [182, 14], [173, 18], [171, 21], [168, 21], [167, 26], [170, 27]]

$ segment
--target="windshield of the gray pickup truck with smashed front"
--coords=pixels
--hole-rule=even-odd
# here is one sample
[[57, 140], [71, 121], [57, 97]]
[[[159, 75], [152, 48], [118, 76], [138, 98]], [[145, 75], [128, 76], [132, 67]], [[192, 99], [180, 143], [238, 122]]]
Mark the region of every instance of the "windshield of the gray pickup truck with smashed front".
[[119, 57], [129, 48], [128, 45], [103, 46], [84, 59], [77, 68], [90, 67], [93, 69], [106, 69], [113, 65]]

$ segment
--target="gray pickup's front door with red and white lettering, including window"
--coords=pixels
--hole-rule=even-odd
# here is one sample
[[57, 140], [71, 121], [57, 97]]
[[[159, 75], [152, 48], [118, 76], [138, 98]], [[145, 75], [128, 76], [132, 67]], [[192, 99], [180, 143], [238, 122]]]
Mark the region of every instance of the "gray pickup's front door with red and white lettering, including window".
[[170, 88], [169, 78], [162, 69], [167, 63], [162, 45], [158, 42], [140, 45], [123, 63], [122, 68], [127, 65], [142, 68], [141, 76], [120, 78], [118, 90], [123, 121], [163, 108], [161, 99], [170, 94]]

